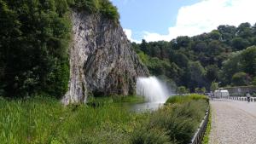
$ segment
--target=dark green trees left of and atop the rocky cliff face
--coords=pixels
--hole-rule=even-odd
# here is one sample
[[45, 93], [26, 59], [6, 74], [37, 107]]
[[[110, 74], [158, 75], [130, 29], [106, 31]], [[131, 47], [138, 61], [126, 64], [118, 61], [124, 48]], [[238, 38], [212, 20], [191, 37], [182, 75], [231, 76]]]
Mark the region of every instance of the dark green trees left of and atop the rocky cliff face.
[[71, 8], [119, 20], [108, 0], [0, 0], [0, 95], [65, 94]]

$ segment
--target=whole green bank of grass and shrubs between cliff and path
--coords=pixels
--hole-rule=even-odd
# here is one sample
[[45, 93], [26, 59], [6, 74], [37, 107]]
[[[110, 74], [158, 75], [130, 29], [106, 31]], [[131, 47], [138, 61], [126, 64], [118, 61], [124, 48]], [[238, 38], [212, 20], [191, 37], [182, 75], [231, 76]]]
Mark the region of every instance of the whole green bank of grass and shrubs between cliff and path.
[[0, 141], [3, 144], [186, 143], [208, 106], [204, 99], [191, 99], [166, 104], [155, 112], [136, 113], [119, 107], [115, 101], [121, 100], [114, 99], [99, 107], [63, 107], [54, 98], [1, 98]]

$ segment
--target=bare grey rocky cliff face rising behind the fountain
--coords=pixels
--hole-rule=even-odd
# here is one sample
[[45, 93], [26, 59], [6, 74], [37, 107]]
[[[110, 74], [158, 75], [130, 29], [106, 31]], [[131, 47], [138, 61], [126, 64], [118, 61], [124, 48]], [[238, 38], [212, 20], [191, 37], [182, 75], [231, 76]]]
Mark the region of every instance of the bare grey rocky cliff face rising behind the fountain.
[[148, 76], [122, 27], [101, 14], [73, 10], [69, 49], [70, 81], [65, 104], [85, 102], [88, 95], [129, 95], [136, 78]]

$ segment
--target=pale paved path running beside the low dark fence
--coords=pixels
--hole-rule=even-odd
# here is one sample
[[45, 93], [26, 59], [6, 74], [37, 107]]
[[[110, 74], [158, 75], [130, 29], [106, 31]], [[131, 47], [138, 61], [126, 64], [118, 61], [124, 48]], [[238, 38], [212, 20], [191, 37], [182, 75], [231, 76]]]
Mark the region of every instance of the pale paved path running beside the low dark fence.
[[256, 102], [214, 100], [209, 144], [256, 144]]

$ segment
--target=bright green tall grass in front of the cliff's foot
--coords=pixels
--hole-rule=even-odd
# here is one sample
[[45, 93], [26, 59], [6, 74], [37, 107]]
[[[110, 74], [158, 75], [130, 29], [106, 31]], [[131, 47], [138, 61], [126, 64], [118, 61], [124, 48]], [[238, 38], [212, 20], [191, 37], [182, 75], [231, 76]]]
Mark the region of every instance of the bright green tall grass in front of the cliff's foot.
[[96, 108], [85, 105], [63, 107], [59, 101], [47, 97], [1, 99], [0, 115], [0, 141], [3, 144], [125, 142], [129, 139], [126, 134], [147, 117], [146, 113], [131, 113], [114, 104]]

